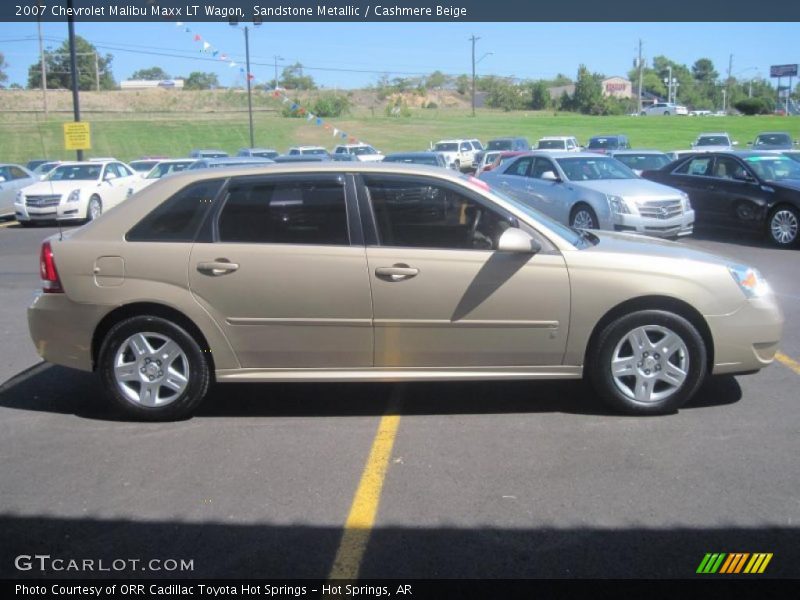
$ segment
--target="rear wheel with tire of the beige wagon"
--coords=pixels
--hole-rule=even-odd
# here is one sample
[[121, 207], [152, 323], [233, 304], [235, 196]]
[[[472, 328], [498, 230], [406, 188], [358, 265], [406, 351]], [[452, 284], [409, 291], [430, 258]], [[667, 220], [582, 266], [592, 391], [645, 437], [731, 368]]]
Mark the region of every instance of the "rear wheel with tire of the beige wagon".
[[208, 361], [197, 341], [174, 323], [136, 316], [114, 325], [97, 369], [115, 408], [144, 421], [174, 421], [195, 411], [208, 392]]

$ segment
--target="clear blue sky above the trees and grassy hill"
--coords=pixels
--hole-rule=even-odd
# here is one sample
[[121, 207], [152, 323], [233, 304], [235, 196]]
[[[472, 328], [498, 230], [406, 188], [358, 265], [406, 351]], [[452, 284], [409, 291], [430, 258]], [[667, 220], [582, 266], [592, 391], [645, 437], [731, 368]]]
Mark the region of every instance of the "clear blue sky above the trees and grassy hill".
[[[244, 37], [225, 23], [191, 23], [192, 34], [170, 23], [77, 23], [76, 32], [114, 55], [117, 81], [135, 70], [158, 65], [171, 75], [214, 71], [222, 85], [241, 83], [239, 69], [204, 61], [192, 41], [198, 33], [233, 60], [244, 59]], [[42, 26], [45, 46], [67, 36], [65, 23]], [[624, 75], [632, 66], [639, 38], [648, 59], [665, 55], [687, 65], [710, 58], [720, 74], [733, 58], [741, 78], [769, 76], [771, 64], [800, 62], [800, 23], [264, 23], [251, 33], [252, 71], [258, 80], [273, 77], [272, 56], [300, 61], [318, 84], [353, 88], [390, 77], [430, 73], [468, 73], [468, 38], [480, 36], [476, 54], [492, 54], [479, 74], [549, 78], [575, 75], [585, 63], [606, 75]], [[25, 85], [28, 66], [37, 60], [35, 23], [0, 23], [0, 52], [9, 64], [8, 83]], [[147, 52], [157, 54], [147, 54]], [[174, 54], [181, 55], [164, 56]], [[371, 71], [371, 72], [361, 72]]]

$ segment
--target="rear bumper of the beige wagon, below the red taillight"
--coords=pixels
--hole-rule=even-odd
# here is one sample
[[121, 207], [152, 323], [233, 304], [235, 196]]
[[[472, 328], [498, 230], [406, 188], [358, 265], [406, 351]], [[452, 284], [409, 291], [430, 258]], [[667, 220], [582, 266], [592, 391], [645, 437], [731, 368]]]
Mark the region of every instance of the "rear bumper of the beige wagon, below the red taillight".
[[36, 352], [48, 362], [91, 371], [92, 332], [112, 308], [40, 292], [28, 307], [28, 329]]

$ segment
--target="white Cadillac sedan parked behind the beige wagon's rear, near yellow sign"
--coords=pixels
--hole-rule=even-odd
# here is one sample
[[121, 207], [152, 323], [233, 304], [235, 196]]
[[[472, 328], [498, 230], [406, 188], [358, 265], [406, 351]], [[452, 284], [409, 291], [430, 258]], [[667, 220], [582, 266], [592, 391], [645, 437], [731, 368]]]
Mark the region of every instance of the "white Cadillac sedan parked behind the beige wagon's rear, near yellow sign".
[[66, 162], [17, 192], [14, 213], [22, 225], [38, 221], [91, 221], [128, 197], [139, 175], [119, 161]]

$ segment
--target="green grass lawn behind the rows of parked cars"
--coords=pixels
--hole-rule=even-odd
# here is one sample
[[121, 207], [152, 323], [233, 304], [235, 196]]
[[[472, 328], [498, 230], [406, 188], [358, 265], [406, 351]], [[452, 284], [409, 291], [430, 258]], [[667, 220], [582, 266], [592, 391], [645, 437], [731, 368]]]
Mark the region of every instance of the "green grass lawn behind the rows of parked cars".
[[[0, 116], [0, 162], [31, 158], [74, 158], [63, 149], [62, 123], [67, 115], [44, 121], [35, 114]], [[143, 155], [186, 156], [192, 148], [235, 152], [248, 146], [247, 113], [103, 114], [84, 116], [92, 124], [89, 156], [132, 160]], [[371, 116], [368, 112], [328, 121], [334, 127], [383, 152], [424, 150], [443, 138], [521, 135], [531, 142], [545, 135], [574, 135], [585, 143], [592, 135], [620, 133], [638, 148], [688, 149], [700, 132], [727, 131], [741, 148], [760, 131], [789, 131], [800, 137], [800, 119], [792, 117], [590, 117], [569, 113], [418, 110], [411, 117]], [[281, 152], [295, 144], [332, 148], [340, 140], [305, 119], [275, 113], [255, 115], [256, 146]]]

